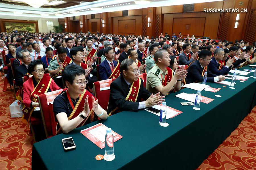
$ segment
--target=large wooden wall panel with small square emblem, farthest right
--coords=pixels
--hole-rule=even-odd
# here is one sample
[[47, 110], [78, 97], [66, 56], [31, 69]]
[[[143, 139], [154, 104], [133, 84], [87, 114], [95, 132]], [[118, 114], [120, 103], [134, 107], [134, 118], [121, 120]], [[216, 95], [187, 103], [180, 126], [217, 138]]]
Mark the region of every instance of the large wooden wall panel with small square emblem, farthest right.
[[173, 32], [182, 33], [183, 37], [187, 34], [195, 37], [203, 37], [206, 17], [195, 18], [173, 18]]

